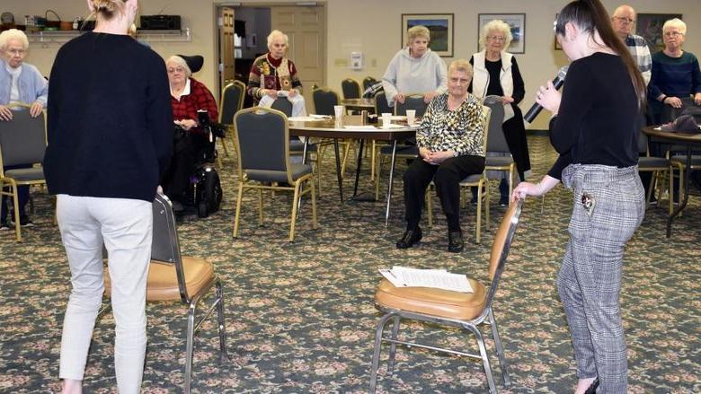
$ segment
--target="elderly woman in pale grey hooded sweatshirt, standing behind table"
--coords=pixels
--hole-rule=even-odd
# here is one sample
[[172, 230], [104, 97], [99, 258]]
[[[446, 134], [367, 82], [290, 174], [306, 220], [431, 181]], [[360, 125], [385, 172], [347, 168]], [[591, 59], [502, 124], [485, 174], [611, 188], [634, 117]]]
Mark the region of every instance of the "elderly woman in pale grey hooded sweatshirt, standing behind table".
[[421, 93], [429, 103], [434, 96], [446, 92], [446, 64], [429, 48], [430, 31], [425, 26], [414, 26], [407, 32], [406, 48], [392, 57], [382, 87], [387, 104], [404, 103], [406, 94]]

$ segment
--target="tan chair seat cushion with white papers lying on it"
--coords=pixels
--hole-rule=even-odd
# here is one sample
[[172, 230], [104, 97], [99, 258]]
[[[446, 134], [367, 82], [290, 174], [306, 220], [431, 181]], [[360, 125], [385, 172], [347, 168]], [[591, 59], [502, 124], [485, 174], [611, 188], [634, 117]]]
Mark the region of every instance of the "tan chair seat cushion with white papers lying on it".
[[431, 287], [395, 287], [383, 279], [375, 291], [375, 302], [386, 308], [424, 313], [441, 318], [471, 320], [484, 311], [484, 285], [468, 277], [475, 293], [458, 293]]

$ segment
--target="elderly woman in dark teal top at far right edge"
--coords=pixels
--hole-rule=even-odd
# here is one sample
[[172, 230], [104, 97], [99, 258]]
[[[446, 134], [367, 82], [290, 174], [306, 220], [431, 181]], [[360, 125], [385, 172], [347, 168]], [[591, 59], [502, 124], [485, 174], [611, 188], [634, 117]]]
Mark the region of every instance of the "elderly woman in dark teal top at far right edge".
[[670, 121], [666, 106], [681, 108], [681, 99], [694, 97], [701, 105], [701, 72], [694, 54], [682, 50], [687, 36], [687, 24], [674, 18], [664, 22], [664, 49], [652, 55], [652, 77], [649, 101], [655, 123]]

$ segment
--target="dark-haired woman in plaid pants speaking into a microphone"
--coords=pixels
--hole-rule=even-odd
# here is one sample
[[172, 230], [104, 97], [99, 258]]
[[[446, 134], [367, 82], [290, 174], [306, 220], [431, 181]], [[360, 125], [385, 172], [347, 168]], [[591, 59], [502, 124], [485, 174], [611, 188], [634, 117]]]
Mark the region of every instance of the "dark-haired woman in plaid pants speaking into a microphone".
[[547, 83], [536, 101], [553, 113], [550, 141], [560, 157], [540, 183], [520, 183], [513, 197], [541, 196], [561, 179], [572, 189], [557, 288], [577, 361], [574, 392], [625, 394], [619, 293], [623, 251], [645, 212], [637, 170], [645, 84], [599, 0], [565, 5], [555, 33], [572, 64], [562, 96]]

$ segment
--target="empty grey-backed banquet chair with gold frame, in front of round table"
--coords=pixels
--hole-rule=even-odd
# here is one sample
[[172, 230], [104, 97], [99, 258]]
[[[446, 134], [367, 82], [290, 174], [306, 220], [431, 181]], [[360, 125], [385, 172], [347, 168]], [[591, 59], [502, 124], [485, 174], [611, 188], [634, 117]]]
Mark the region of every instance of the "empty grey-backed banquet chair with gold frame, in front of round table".
[[[238, 197], [234, 218], [234, 238], [238, 236], [244, 191], [258, 190], [258, 222], [263, 223], [262, 190], [291, 191], [292, 214], [289, 241], [295, 241], [297, 201], [305, 194], [312, 198], [312, 226], [316, 223], [315, 174], [310, 164], [290, 161], [288, 117], [277, 109], [242, 109], [234, 117], [239, 158]], [[287, 185], [287, 186], [283, 186]], [[306, 186], [305, 186], [306, 185]]]

